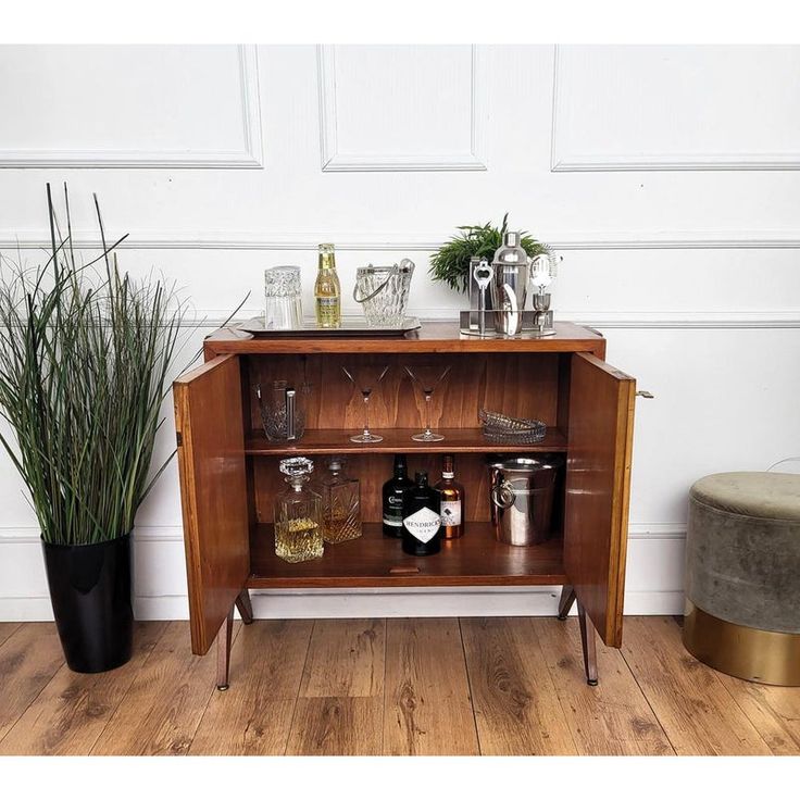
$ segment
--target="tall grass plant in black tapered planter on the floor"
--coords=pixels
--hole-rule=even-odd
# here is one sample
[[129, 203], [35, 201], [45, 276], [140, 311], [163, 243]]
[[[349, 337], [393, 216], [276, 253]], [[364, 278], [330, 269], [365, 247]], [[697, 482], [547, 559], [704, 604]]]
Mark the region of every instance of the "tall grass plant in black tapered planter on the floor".
[[47, 187], [51, 252], [34, 268], [0, 260], [0, 441], [41, 530], [59, 636], [75, 672], [130, 658], [130, 536], [151, 473], [185, 303], [162, 280], [121, 274], [107, 247], [80, 264], [68, 197], [61, 235]]

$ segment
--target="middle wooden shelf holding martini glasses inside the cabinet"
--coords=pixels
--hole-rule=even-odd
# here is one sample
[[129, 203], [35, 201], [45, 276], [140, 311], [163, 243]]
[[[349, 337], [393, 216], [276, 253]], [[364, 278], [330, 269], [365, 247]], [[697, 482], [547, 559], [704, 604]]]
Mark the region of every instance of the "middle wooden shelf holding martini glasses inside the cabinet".
[[480, 428], [437, 428], [441, 441], [414, 441], [411, 437], [421, 428], [372, 428], [383, 441], [360, 445], [350, 441], [357, 428], [307, 429], [296, 442], [268, 441], [261, 430], [250, 433], [245, 441], [248, 455], [328, 455], [349, 453], [554, 453], [566, 451], [566, 437], [558, 428], [549, 428], [545, 439], [535, 445], [498, 445], [487, 441]]

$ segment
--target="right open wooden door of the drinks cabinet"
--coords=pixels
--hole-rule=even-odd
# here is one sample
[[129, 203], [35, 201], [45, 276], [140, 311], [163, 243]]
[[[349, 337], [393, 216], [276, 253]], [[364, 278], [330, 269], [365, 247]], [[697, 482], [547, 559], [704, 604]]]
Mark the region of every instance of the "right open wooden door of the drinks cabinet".
[[636, 382], [588, 353], [572, 357], [564, 566], [602, 640], [622, 645]]

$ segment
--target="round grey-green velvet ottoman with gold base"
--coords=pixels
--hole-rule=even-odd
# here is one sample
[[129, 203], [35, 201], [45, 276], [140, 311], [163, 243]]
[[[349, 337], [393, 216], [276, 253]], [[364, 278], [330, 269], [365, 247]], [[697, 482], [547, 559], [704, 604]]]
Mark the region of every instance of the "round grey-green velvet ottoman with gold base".
[[727, 472], [691, 487], [684, 645], [728, 675], [800, 686], [800, 475]]

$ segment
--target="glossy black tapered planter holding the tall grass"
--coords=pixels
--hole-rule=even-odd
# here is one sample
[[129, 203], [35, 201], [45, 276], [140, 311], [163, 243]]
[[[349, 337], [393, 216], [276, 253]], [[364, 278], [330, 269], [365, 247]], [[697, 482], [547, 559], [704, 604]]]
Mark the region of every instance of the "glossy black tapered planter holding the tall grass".
[[130, 534], [97, 545], [42, 539], [50, 600], [67, 666], [105, 672], [130, 660]]

